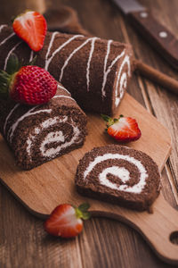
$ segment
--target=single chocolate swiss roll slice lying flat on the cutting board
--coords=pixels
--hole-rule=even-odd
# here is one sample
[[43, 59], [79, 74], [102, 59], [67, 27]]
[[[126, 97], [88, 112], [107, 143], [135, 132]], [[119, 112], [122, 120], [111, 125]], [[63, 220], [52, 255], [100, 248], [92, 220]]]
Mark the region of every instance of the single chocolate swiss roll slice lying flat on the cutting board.
[[77, 166], [80, 194], [143, 211], [158, 197], [160, 175], [149, 155], [129, 147], [95, 147]]

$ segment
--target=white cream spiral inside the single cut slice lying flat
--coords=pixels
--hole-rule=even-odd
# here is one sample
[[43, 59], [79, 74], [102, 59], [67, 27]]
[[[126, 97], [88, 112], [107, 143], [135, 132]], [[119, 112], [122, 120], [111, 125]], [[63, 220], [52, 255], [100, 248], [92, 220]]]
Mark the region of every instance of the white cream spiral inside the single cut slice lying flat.
[[[102, 185], [109, 187], [109, 188], [115, 188], [119, 191], [125, 191], [129, 193], [135, 193], [135, 194], [140, 194], [142, 192], [142, 189], [146, 185], [146, 179], [148, 178], [148, 173], [145, 169], [145, 167], [142, 165], [141, 161], [138, 159], [135, 159], [134, 157], [130, 155], [120, 155], [120, 154], [105, 154], [105, 155], [100, 155], [97, 156], [93, 162], [89, 163], [87, 166], [85, 172], [84, 172], [84, 180], [87, 180], [86, 177], [87, 175], [92, 172], [94, 166], [97, 163], [101, 163], [102, 161], [109, 160], [109, 159], [122, 159], [125, 160], [129, 163], [133, 163], [139, 170], [140, 172], [140, 180], [138, 183], [134, 184], [134, 186], [128, 186], [125, 182], [130, 180], [130, 174], [125, 168], [120, 168], [117, 166], [109, 167], [104, 169], [100, 175], [99, 175], [99, 180]], [[113, 174], [117, 176], [120, 180], [124, 182], [124, 184], [117, 186], [116, 183], [113, 183], [107, 179], [107, 174]]]

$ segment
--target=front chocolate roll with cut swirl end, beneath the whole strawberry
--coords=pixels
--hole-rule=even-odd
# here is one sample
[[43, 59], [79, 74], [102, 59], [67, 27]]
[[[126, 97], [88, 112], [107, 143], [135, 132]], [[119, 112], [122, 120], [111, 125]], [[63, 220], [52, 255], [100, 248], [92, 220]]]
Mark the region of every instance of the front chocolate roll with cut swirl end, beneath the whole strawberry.
[[0, 130], [17, 164], [29, 170], [81, 147], [86, 116], [59, 83], [56, 95], [45, 105], [0, 100]]

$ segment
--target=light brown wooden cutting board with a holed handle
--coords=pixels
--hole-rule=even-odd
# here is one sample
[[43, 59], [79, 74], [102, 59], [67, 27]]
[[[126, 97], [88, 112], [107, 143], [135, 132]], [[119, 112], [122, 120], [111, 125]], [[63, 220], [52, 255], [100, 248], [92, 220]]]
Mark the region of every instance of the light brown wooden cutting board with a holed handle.
[[[171, 138], [164, 126], [148, 113], [132, 96], [125, 94], [118, 113], [133, 116], [142, 130], [142, 138], [127, 146], [150, 155], [162, 171], [171, 150]], [[89, 202], [91, 212], [126, 222], [141, 232], [160, 258], [167, 263], [178, 264], [178, 247], [170, 242], [170, 235], [178, 231], [178, 213], [166, 203], [162, 195], [153, 205], [153, 214], [138, 213], [118, 205], [109, 205], [94, 199], [81, 197], [74, 185], [78, 160], [93, 147], [113, 144], [115, 141], [103, 133], [104, 122], [100, 115], [88, 114], [88, 136], [85, 145], [68, 155], [33, 169], [21, 171], [4, 139], [0, 137], [0, 178], [28, 210], [38, 217], [50, 214], [56, 205], [79, 205]]]

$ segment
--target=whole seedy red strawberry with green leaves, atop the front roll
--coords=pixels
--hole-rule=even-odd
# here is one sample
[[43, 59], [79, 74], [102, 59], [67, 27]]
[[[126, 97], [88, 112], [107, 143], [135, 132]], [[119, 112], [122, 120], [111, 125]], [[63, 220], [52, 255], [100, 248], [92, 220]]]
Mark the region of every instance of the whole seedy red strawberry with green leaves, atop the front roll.
[[25, 105], [42, 105], [56, 93], [57, 81], [43, 68], [33, 65], [20, 67], [12, 54], [6, 71], [0, 71], [0, 96]]

